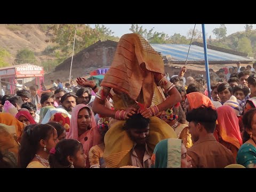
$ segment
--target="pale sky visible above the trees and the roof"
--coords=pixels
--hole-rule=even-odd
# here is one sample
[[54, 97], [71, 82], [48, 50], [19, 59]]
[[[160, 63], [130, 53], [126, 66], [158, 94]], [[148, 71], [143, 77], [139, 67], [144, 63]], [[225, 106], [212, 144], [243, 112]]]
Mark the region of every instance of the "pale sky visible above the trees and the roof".
[[[103, 24], [104, 26], [108, 27], [112, 31], [114, 31], [114, 36], [121, 37], [124, 34], [131, 33], [129, 28], [131, 24]], [[187, 33], [190, 29], [194, 29], [195, 24], [138, 24], [139, 26], [143, 26], [143, 29], [150, 30], [154, 27], [154, 31], [164, 32], [169, 36], [172, 36], [174, 33], [179, 33], [183, 36], [187, 37]], [[95, 24], [90, 24], [92, 28], [94, 28]], [[237, 31], [244, 31], [245, 24], [225, 24], [227, 27], [227, 36]], [[205, 31], [206, 36], [209, 37], [212, 35], [212, 38], [215, 38], [213, 35], [212, 30], [215, 28], [219, 28], [220, 24], [205, 24]], [[254, 29], [255, 25], [253, 25]], [[196, 24], [196, 29], [202, 31], [202, 25]]]

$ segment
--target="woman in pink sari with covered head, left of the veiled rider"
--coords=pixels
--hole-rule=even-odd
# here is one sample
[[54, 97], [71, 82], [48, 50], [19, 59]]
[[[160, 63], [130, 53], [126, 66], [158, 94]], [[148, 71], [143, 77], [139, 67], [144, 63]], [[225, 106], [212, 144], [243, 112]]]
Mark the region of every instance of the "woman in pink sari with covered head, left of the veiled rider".
[[79, 104], [72, 110], [67, 139], [76, 139], [83, 144], [86, 168], [90, 167], [89, 150], [101, 142], [101, 135], [90, 106]]

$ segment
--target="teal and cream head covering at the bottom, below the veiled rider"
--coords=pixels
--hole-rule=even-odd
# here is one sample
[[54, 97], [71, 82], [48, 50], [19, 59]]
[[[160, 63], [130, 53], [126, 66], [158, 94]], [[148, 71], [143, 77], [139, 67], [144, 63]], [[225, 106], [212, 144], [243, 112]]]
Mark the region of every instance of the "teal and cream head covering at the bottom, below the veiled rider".
[[180, 168], [181, 139], [165, 139], [157, 143], [151, 157], [151, 168]]

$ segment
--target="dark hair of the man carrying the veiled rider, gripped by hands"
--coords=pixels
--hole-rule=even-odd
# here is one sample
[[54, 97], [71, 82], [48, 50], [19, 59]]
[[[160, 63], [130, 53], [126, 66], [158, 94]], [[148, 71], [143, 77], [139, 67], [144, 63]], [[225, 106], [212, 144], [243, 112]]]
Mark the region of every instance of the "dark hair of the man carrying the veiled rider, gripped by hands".
[[141, 114], [134, 114], [124, 124], [124, 129], [145, 129], [149, 125], [149, 118]]

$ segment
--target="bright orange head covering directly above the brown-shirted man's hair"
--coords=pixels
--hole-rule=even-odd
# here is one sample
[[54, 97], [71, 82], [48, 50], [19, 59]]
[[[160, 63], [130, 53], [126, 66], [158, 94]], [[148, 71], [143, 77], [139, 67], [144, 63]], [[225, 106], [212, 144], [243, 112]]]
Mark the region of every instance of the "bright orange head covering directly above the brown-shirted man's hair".
[[196, 109], [198, 107], [201, 107], [202, 105], [205, 105], [206, 107], [215, 108], [214, 105], [212, 104], [211, 99], [209, 97], [206, 97], [202, 93], [193, 92], [186, 94], [186, 97], [188, 99], [191, 109]]

